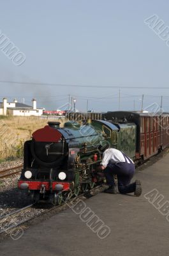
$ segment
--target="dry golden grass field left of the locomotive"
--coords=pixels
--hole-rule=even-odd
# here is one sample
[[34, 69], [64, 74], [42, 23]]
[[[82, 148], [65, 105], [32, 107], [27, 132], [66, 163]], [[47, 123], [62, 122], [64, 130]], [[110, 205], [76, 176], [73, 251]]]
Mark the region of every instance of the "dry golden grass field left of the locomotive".
[[38, 116], [0, 116], [0, 161], [22, 156], [24, 141], [47, 122]]

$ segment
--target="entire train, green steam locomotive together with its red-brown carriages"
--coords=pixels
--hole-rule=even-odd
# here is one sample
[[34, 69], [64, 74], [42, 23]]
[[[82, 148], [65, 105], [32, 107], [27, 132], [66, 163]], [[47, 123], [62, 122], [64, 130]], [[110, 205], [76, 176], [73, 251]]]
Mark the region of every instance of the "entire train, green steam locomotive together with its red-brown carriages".
[[128, 111], [108, 112], [103, 120], [48, 122], [24, 144], [24, 168], [18, 188], [37, 202], [61, 204], [70, 191], [93, 188], [104, 177], [93, 170], [107, 147], [126, 153], [135, 163], [169, 145], [169, 116]]

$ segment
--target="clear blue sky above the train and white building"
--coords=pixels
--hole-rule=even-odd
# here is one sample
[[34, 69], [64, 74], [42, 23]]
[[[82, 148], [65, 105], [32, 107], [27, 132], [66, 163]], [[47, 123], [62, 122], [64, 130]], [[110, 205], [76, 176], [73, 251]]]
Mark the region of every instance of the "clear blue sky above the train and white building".
[[[169, 47], [143, 22], [156, 13], [169, 26], [168, 10], [165, 0], [1, 0], [0, 30], [26, 54], [26, 61], [17, 67], [0, 51], [0, 80], [168, 86]], [[0, 86], [0, 100], [24, 97], [30, 104], [37, 97], [38, 106], [56, 109], [68, 102], [70, 94], [77, 98], [80, 110], [86, 109], [89, 97], [95, 97], [89, 98], [89, 109], [118, 109], [118, 88]], [[121, 109], [133, 109], [134, 100], [135, 108], [140, 108], [143, 93], [169, 96], [169, 86], [168, 90], [123, 88]], [[159, 103], [160, 98], [145, 97], [144, 106], [152, 102]], [[166, 111], [168, 105], [166, 98]]]

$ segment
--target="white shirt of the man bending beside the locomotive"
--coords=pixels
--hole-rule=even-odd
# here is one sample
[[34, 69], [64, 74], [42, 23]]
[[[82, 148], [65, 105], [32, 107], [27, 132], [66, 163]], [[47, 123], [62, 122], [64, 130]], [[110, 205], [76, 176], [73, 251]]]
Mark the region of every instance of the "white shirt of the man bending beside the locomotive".
[[[126, 159], [125, 159], [126, 158]], [[103, 165], [105, 168], [107, 167], [108, 162], [111, 159], [112, 163], [125, 163], [126, 161], [128, 163], [130, 159], [129, 157], [125, 157], [123, 156], [122, 152], [120, 150], [117, 150], [115, 148], [108, 148], [107, 150], [105, 150], [105, 152], [103, 153], [103, 159], [101, 161], [101, 165]], [[130, 159], [131, 160], [131, 159]], [[131, 162], [133, 163], [133, 161], [131, 160]]]

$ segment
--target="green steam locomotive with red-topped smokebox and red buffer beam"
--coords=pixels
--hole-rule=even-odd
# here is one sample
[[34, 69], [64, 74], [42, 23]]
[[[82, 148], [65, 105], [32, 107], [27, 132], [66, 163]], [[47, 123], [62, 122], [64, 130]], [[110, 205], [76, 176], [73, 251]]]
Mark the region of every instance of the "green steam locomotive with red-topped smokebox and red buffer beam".
[[[101, 177], [92, 170], [101, 162], [105, 148], [117, 147], [120, 129], [135, 131], [135, 124], [127, 126], [105, 120], [87, 120], [82, 125], [69, 121], [64, 127], [59, 127], [59, 122], [48, 122], [24, 143], [24, 168], [18, 188], [27, 189], [34, 201], [48, 200], [52, 204], [61, 204], [70, 191], [78, 195], [93, 188]], [[134, 142], [135, 132], [133, 136]]]

